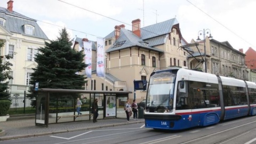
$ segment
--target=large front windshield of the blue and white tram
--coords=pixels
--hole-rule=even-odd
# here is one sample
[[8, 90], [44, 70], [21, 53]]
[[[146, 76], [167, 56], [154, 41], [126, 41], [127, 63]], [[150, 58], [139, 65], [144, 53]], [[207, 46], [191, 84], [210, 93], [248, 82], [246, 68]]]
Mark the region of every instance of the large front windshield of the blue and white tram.
[[170, 72], [156, 73], [150, 77], [146, 101], [147, 112], [172, 112], [175, 78], [175, 74]]

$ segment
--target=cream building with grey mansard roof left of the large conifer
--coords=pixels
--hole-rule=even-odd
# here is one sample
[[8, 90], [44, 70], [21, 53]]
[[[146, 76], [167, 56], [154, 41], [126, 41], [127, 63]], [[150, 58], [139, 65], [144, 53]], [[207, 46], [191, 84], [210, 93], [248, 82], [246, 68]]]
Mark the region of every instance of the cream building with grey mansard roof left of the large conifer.
[[1, 56], [12, 56], [8, 60], [13, 64], [9, 92], [27, 91], [32, 68], [37, 65], [34, 59], [37, 49], [44, 47], [47, 36], [35, 19], [13, 11], [13, 1], [9, 1], [7, 8], [0, 7], [0, 40], [4, 41]]

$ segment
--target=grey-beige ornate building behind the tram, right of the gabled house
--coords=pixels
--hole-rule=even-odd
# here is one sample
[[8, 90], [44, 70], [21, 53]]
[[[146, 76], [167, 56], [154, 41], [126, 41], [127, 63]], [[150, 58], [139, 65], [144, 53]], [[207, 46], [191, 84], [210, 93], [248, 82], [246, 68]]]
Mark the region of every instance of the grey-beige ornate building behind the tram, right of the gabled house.
[[[202, 59], [204, 58], [204, 41], [191, 40], [192, 44], [198, 43], [198, 50], [193, 47], [193, 56]], [[234, 49], [228, 41], [217, 41], [215, 39], [205, 38], [206, 49], [206, 65], [207, 73], [218, 74], [226, 77], [235, 77], [237, 79], [248, 80], [247, 66], [245, 64], [245, 54]], [[200, 53], [203, 55], [199, 55]], [[198, 61], [192, 55], [188, 58], [190, 69], [195, 69]], [[204, 65], [199, 65], [205, 71]]]

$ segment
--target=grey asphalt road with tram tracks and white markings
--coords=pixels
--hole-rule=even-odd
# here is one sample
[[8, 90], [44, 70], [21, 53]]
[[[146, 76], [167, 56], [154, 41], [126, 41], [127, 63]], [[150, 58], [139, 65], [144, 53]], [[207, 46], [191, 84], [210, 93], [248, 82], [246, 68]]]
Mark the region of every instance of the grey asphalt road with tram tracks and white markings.
[[256, 143], [256, 116], [238, 118], [219, 124], [182, 131], [160, 131], [145, 128], [143, 123], [0, 141], [19, 144], [61, 143]]

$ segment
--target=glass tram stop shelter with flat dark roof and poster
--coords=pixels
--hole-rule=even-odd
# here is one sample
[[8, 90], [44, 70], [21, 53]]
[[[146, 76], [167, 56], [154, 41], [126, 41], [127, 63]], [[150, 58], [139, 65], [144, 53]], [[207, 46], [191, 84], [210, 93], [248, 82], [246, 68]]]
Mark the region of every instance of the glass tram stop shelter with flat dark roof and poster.
[[[97, 91], [74, 89], [38, 89], [36, 98], [36, 125], [93, 120], [91, 107], [98, 98], [98, 119], [125, 118], [124, 105], [131, 91]], [[76, 112], [77, 98], [82, 101], [80, 112]]]

